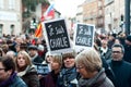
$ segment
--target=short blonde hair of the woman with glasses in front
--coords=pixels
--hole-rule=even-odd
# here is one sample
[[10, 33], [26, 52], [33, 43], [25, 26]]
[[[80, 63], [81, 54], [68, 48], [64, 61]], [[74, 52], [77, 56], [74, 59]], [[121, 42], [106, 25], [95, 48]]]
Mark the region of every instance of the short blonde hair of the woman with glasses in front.
[[75, 63], [85, 66], [87, 72], [95, 72], [102, 69], [102, 60], [95, 49], [83, 50], [75, 58]]

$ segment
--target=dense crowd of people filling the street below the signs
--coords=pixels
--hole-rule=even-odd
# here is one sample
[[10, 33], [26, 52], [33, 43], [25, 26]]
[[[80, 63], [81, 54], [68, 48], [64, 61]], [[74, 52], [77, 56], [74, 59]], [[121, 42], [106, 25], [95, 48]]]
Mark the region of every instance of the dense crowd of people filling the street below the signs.
[[[47, 64], [39, 74], [36, 64]], [[95, 35], [94, 48], [61, 53], [29, 35], [0, 39], [0, 87], [131, 87], [131, 35]]]

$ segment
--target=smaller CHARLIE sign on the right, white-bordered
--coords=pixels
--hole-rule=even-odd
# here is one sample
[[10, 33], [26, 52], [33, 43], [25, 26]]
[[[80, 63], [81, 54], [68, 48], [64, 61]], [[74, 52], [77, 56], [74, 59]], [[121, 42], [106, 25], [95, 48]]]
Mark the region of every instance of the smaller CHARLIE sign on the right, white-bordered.
[[91, 24], [76, 24], [74, 45], [80, 48], [91, 48], [94, 42], [95, 26]]

